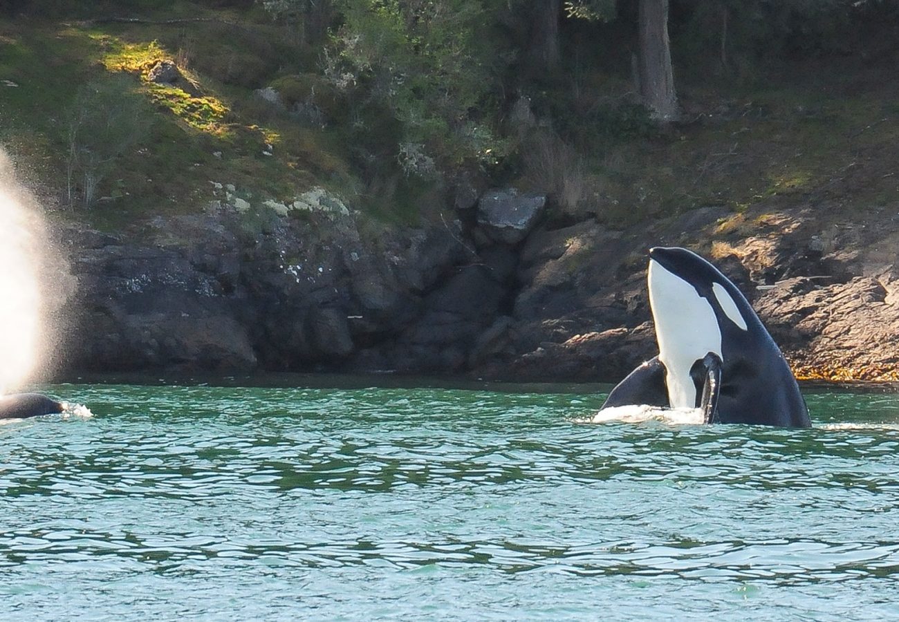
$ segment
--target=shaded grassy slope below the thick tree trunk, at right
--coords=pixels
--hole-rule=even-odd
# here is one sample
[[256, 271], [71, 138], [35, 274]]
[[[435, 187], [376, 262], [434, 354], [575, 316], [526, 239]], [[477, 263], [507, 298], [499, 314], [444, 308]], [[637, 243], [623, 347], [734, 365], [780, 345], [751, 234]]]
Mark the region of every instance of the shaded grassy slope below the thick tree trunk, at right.
[[[616, 147], [595, 165], [610, 181], [624, 219], [708, 205], [739, 215], [768, 204], [800, 205], [831, 186], [843, 207], [884, 207], [897, 200], [891, 162], [899, 156], [894, 85], [854, 67], [798, 67], [791, 76], [747, 88], [682, 88], [686, 124], [663, 138]], [[871, 182], [848, 188], [846, 171], [870, 169]], [[615, 212], [620, 212], [616, 214]]]

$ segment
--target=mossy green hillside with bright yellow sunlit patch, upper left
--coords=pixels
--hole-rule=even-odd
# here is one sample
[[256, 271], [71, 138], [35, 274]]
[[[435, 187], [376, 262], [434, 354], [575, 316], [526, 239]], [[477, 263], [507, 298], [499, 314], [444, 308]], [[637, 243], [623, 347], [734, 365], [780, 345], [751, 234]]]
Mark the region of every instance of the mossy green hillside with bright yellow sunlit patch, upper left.
[[[0, 21], [0, 139], [60, 208], [72, 204], [62, 218], [119, 230], [191, 213], [212, 199], [210, 182], [256, 200], [321, 185], [354, 196], [339, 131], [292, 119], [255, 92], [295, 50], [264, 15], [236, 17], [177, 3], [134, 23]], [[179, 76], [152, 82], [159, 61]], [[100, 161], [86, 162], [88, 151]], [[97, 180], [85, 205], [88, 173]]]

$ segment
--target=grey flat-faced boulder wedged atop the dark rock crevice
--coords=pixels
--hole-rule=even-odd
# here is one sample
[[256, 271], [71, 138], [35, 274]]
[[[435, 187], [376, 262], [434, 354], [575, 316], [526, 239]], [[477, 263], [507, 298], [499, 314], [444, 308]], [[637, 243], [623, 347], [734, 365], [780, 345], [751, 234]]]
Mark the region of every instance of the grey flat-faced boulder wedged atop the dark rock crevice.
[[477, 201], [477, 222], [495, 242], [518, 244], [547, 205], [547, 195], [519, 194], [513, 188], [486, 191]]

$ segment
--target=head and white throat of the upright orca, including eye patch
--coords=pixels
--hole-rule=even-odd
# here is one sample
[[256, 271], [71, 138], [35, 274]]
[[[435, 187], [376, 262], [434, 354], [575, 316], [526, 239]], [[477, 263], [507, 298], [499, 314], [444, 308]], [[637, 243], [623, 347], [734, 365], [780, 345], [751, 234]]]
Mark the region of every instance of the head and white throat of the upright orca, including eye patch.
[[748, 331], [755, 313], [715, 266], [685, 248], [650, 249], [647, 280], [670, 405], [694, 408], [693, 364], [709, 352], [725, 361], [725, 335]]

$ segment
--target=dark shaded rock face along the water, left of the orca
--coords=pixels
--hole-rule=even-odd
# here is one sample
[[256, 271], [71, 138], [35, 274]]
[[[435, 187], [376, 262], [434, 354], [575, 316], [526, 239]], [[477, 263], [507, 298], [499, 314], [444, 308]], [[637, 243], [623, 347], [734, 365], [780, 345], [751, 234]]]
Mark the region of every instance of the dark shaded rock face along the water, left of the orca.
[[460, 371], [507, 296], [458, 224], [363, 239], [340, 213], [248, 218], [157, 218], [132, 244], [63, 232], [69, 367]]

